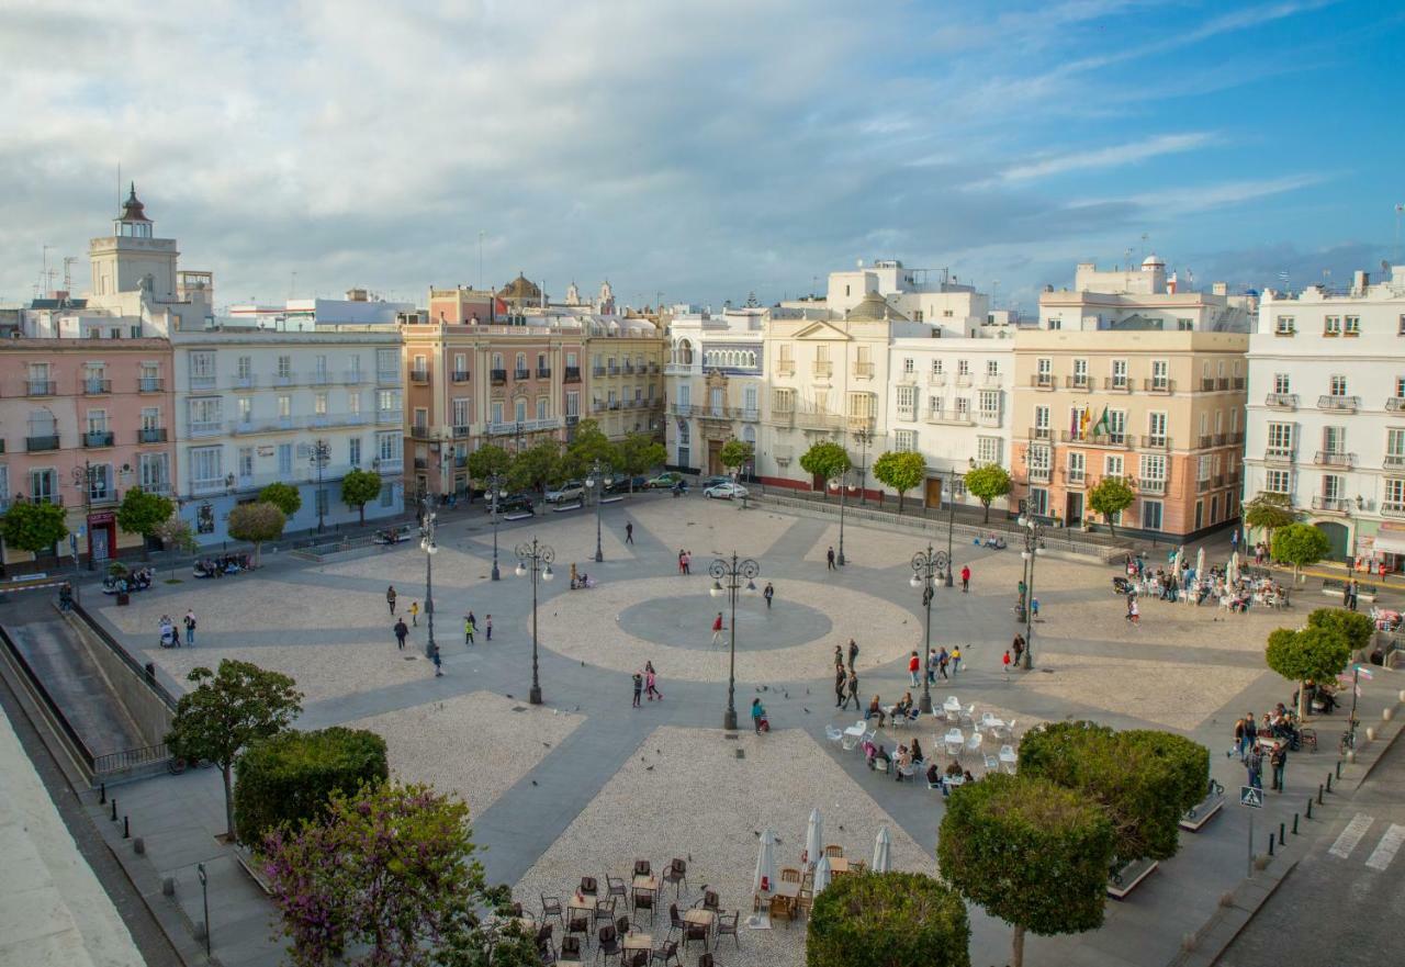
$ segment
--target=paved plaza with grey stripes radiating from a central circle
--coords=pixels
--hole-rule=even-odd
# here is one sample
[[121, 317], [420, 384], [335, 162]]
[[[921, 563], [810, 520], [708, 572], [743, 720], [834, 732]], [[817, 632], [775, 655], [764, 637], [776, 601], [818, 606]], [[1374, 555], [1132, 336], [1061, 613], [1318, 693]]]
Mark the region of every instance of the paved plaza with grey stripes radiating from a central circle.
[[[634, 523], [629, 545], [627, 521]], [[502, 580], [495, 583], [486, 517], [476, 507], [441, 517], [434, 632], [443, 677], [434, 677], [424, 658], [426, 555], [417, 541], [322, 564], [271, 555], [256, 573], [162, 583], [133, 596], [129, 607], [108, 603], [100, 616], [129, 649], [155, 662], [171, 687], [183, 687], [197, 663], [247, 659], [298, 680], [306, 694], [302, 727], [344, 724], [384, 735], [392, 773], [433, 781], [468, 801], [489, 877], [514, 884], [528, 908], [537, 908], [544, 893], [568, 895], [586, 874], [603, 881], [606, 874], [625, 877], [635, 859], [658, 869], [683, 857], [688, 885], [679, 902], [693, 902], [708, 884], [719, 890], [725, 908], [742, 908], [745, 923], [759, 831], [776, 829], [781, 864], [797, 864], [812, 807], [825, 817], [826, 841], [842, 845], [849, 857], [867, 859], [887, 826], [895, 869], [932, 871], [940, 793], [870, 772], [858, 753], [844, 752], [825, 734], [858, 717], [835, 708], [835, 645], [858, 642], [865, 703], [880, 694], [891, 704], [910, 689], [906, 658], [922, 648], [923, 611], [920, 592], [909, 586], [909, 561], [926, 538], [849, 526], [849, 564], [829, 571], [825, 552], [839, 543], [832, 519], [649, 493], [607, 505], [603, 523], [601, 564], [593, 559], [596, 519], [587, 510], [503, 523]], [[538, 588], [541, 707], [525, 701], [532, 589], [530, 578], [514, 575], [513, 551], [532, 537], [549, 544], [556, 558], [556, 579]], [[679, 573], [680, 550], [693, 554], [691, 575]], [[770, 610], [760, 595], [739, 600], [735, 704], [742, 731], [729, 736], [719, 727], [731, 609], [725, 596], [708, 593], [707, 571], [714, 557], [733, 551], [759, 562], [757, 589], [771, 582], [776, 600]], [[1263, 666], [1264, 635], [1329, 603], [1302, 600], [1287, 614], [1229, 614], [1145, 600], [1141, 625], [1132, 627], [1123, 599], [1111, 592], [1114, 568], [1045, 557], [1035, 573], [1035, 669], [1007, 675], [1000, 658], [1017, 630], [1012, 606], [1020, 555], [960, 541], [954, 554], [958, 571], [971, 566], [972, 586], [969, 593], [960, 582], [937, 590], [932, 641], [933, 648], [961, 645], [965, 661], [954, 679], [934, 686], [937, 704], [957, 696], [974, 703], [978, 717], [991, 711], [1016, 720], [1017, 734], [1040, 721], [1083, 717], [1120, 728], [1180, 731], [1211, 749], [1214, 772], [1231, 788], [1242, 780], [1238, 763], [1224, 755], [1232, 721], [1286, 701], [1291, 690]], [[1220, 561], [1214, 552], [1210, 559]], [[572, 564], [590, 573], [593, 589], [569, 589]], [[420, 603], [405, 651], [395, 645], [388, 585], [399, 593], [398, 614]], [[156, 648], [160, 616], [178, 617], [187, 609], [200, 617], [197, 647]], [[479, 625], [473, 645], [464, 641], [469, 610]], [[714, 645], [711, 623], [719, 610], [729, 627]], [[492, 641], [483, 632], [489, 614]], [[658, 669], [663, 700], [634, 708], [631, 673], [646, 661]], [[747, 710], [757, 697], [770, 715], [770, 735], [749, 728]], [[937, 752], [944, 731], [929, 720], [910, 734]], [[902, 729], [885, 729], [880, 741], [894, 748], [908, 738]], [[984, 751], [993, 753], [998, 745], [991, 738]], [[976, 774], [984, 770], [981, 756], [962, 755], [962, 765]], [[1290, 766], [1290, 790], [1293, 779]], [[133, 811], [174, 803], [197, 817], [181, 826], [183, 845], [149, 833], [152, 862], [162, 871], [181, 878], [197, 853], [218, 853], [200, 833], [201, 826], [218, 832], [222, 815], [212, 770], [146, 780], [122, 796]], [[1203, 833], [1183, 836], [1182, 855], [1162, 864], [1132, 900], [1110, 904], [1103, 930], [1030, 937], [1030, 956], [1041, 963], [1054, 963], [1047, 960], [1054, 956], [1058, 963], [1165, 963], [1242, 874], [1242, 818], [1227, 812]], [[247, 890], [236, 873], [223, 884], [233, 893]], [[187, 902], [198, 894], [180, 895]], [[666, 929], [672, 898], [670, 890], [658, 933]], [[261, 901], [246, 900], [253, 905], [240, 908], [240, 923], [251, 929]], [[221, 915], [215, 936], [229, 937], [233, 925], [222, 925]], [[641, 916], [648, 928], [648, 915]], [[1007, 928], [981, 911], [972, 912], [972, 961], [1003, 963]], [[242, 926], [239, 932], [239, 945], [222, 954], [226, 964], [278, 963], [267, 929], [257, 940]], [[802, 925], [743, 926], [740, 949], [726, 939], [718, 960], [801, 964], [802, 940]]]

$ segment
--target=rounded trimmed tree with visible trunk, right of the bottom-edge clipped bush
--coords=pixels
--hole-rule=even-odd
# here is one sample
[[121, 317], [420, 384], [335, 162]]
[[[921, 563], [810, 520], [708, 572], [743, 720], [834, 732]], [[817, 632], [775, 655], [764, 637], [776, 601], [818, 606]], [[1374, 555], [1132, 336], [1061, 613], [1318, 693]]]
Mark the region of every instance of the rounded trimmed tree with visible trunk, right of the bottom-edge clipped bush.
[[937, 833], [941, 877], [1014, 928], [1014, 967], [1024, 964], [1026, 930], [1052, 936], [1103, 925], [1111, 857], [1113, 825], [1097, 804], [1024, 774], [955, 788]]

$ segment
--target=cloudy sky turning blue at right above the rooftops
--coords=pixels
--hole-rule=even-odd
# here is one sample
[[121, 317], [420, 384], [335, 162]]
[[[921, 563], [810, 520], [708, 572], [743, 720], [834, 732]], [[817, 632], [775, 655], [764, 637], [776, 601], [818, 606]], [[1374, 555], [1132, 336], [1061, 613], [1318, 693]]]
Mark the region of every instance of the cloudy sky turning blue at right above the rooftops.
[[0, 304], [45, 245], [87, 290], [118, 166], [216, 305], [1345, 284], [1397, 247], [1402, 49], [1384, 0], [0, 0]]

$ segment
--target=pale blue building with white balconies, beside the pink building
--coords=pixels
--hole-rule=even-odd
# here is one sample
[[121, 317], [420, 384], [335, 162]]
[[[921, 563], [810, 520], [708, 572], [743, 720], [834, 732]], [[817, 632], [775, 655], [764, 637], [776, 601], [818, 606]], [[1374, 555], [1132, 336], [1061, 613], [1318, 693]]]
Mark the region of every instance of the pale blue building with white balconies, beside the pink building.
[[367, 519], [403, 510], [403, 372], [393, 325], [249, 325], [171, 335], [176, 492], [197, 540], [228, 540], [229, 510], [274, 481], [302, 507], [288, 530], [353, 523], [340, 481], [381, 474]]

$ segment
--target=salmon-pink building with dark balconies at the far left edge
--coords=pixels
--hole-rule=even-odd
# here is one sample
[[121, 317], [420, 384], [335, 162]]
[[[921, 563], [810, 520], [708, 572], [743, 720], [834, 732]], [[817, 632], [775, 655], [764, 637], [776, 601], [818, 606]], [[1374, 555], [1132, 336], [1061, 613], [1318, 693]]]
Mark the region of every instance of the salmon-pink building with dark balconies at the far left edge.
[[[118, 530], [117, 505], [132, 486], [170, 493], [170, 374], [164, 339], [0, 343], [0, 506], [62, 505], [80, 557], [140, 547]], [[32, 558], [4, 548], [3, 559]]]

